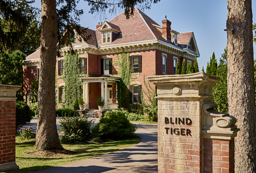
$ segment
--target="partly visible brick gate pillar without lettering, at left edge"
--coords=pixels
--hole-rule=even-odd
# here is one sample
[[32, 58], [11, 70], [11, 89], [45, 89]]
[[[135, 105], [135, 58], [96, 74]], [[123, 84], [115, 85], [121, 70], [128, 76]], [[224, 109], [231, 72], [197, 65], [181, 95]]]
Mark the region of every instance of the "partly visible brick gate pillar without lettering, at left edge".
[[15, 163], [15, 100], [20, 88], [0, 85], [0, 172], [19, 170]]

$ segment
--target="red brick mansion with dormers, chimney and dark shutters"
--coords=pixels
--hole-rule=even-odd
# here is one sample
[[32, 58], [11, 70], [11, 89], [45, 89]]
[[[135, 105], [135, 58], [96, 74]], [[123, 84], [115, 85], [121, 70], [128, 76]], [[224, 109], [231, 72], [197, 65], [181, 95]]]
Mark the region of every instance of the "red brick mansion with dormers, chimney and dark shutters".
[[[110, 21], [98, 23], [96, 30], [87, 29], [91, 38], [87, 42], [76, 39], [74, 50], [77, 50], [81, 60], [81, 71], [87, 74], [82, 78], [83, 98], [86, 107], [97, 108], [99, 96], [105, 99], [105, 109], [116, 108], [117, 87], [114, 75], [117, 67], [116, 54], [123, 50], [129, 53], [133, 76], [130, 84], [131, 102], [140, 103], [141, 87], [145, 87], [143, 77], [153, 75], [174, 75], [179, 60], [180, 70], [183, 59], [194, 63], [199, 57], [194, 32], [179, 33], [171, 29], [171, 22], [164, 18], [162, 26], [150, 19], [145, 13], [135, 8], [134, 15], [126, 20], [124, 12]], [[58, 76], [65, 72], [64, 58], [69, 47], [61, 50], [57, 57]], [[26, 57], [23, 68], [24, 98], [31, 102], [31, 81], [39, 77], [39, 49]], [[117, 77], [116, 77], [117, 76]], [[147, 80], [147, 79], [146, 79]], [[65, 103], [65, 83], [58, 79], [58, 102]]]

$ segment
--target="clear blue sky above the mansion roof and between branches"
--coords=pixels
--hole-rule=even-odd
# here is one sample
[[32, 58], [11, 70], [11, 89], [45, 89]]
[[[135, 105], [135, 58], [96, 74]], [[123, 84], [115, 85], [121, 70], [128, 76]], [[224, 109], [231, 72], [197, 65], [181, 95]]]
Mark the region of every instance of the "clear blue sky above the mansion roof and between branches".
[[[41, 3], [36, 0], [35, 6], [40, 7]], [[123, 12], [117, 9], [116, 14], [107, 14], [107, 19], [97, 14], [90, 14], [90, 7], [86, 2], [81, 0], [79, 9], [84, 10], [80, 24], [82, 27], [89, 27], [95, 30], [98, 22], [109, 21], [116, 15]], [[252, 11], [256, 12], [256, 2], [252, 0]], [[227, 46], [227, 1], [203, 1], [203, 0], [161, 0], [157, 4], [152, 4], [150, 10], [145, 10], [151, 19], [162, 26], [164, 15], [172, 22], [171, 28], [178, 32], [194, 31], [200, 57], [198, 60], [199, 70], [206, 70], [207, 61], [210, 61], [212, 53], [219, 61], [224, 48]], [[256, 13], [254, 13], [256, 15]], [[253, 23], [256, 23], [256, 17]], [[255, 50], [256, 46], [253, 45]], [[256, 53], [254, 51], [254, 59]]]

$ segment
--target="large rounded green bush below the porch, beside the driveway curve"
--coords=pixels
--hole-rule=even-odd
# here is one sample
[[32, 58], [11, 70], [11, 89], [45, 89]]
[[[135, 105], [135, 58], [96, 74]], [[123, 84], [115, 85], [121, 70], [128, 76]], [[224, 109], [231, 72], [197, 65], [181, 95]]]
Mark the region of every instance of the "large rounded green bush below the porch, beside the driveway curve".
[[101, 139], [126, 139], [134, 136], [137, 129], [123, 111], [107, 111], [99, 123], [92, 128], [92, 133], [100, 134]]

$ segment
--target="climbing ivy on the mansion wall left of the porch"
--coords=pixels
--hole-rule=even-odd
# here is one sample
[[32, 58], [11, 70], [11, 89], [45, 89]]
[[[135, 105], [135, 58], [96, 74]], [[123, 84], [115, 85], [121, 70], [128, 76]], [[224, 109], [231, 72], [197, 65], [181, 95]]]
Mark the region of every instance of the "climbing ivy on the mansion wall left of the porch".
[[82, 81], [79, 79], [81, 73], [78, 53], [66, 54], [64, 63], [65, 74], [61, 78], [65, 82], [66, 106], [73, 108], [76, 98], [80, 98], [80, 88], [82, 87]]

